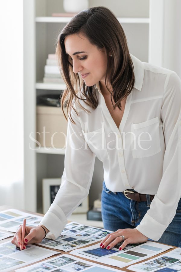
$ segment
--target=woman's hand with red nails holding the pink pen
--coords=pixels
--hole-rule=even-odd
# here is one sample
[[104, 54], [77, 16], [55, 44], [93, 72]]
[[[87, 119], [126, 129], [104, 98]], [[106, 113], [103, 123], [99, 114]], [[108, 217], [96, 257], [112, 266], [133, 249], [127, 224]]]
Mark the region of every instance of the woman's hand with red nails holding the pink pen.
[[[37, 227], [26, 226], [24, 241], [21, 241], [21, 233], [22, 225], [20, 225], [19, 228], [17, 229], [17, 232], [15, 233], [13, 239], [11, 240], [11, 243], [15, 244], [17, 247], [20, 248], [21, 243], [23, 242], [23, 249], [26, 249], [27, 244], [40, 243], [45, 237], [45, 231], [41, 226]], [[46, 233], [48, 233], [48, 231]]]

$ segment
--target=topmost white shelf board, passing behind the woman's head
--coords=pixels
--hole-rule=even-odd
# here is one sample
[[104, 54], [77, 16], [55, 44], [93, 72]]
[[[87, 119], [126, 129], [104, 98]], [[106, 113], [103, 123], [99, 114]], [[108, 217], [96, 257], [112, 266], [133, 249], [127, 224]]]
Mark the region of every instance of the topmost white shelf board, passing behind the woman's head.
[[[68, 23], [72, 17], [36, 17], [36, 22], [41, 23]], [[150, 18], [117, 18], [122, 24], [149, 24]]]

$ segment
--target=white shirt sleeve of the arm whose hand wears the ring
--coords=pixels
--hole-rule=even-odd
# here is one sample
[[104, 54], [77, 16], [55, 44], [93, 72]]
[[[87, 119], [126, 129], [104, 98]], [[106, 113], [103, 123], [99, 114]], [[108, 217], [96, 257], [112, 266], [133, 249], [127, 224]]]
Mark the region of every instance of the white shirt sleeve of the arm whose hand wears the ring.
[[156, 241], [172, 222], [181, 198], [181, 80], [176, 73], [165, 81], [161, 119], [166, 147], [163, 175], [150, 209], [136, 227]]

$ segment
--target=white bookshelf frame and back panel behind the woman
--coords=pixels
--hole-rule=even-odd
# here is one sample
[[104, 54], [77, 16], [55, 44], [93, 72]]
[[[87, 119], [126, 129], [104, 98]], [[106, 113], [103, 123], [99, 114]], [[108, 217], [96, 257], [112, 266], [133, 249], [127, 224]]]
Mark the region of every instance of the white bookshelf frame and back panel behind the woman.
[[[117, 16], [130, 53], [142, 61], [162, 66], [164, 0], [89, 0], [89, 7], [98, 5], [110, 8]], [[37, 149], [29, 138], [36, 131], [36, 96], [65, 89], [65, 84], [43, 83], [46, 58], [49, 53], [55, 53], [56, 37], [71, 19], [51, 17], [54, 12], [64, 12], [63, 0], [24, 1], [24, 208], [32, 212], [42, 211], [41, 180], [61, 177], [64, 168], [65, 150]], [[91, 203], [98, 198], [102, 181], [102, 163], [96, 159], [89, 194]], [[81, 220], [86, 222], [85, 215]]]

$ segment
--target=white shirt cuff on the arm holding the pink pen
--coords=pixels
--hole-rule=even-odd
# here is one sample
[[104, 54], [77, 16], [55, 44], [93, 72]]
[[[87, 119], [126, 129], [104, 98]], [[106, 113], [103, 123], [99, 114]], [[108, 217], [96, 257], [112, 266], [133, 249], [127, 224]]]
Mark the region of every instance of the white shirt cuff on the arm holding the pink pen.
[[52, 209], [50, 207], [48, 212], [43, 216], [40, 225], [45, 226], [50, 231], [46, 235], [46, 238], [55, 240], [67, 224], [67, 218], [58, 205], [53, 203], [53, 206], [56, 206], [56, 213], [58, 213], [59, 216], [51, 211]]

